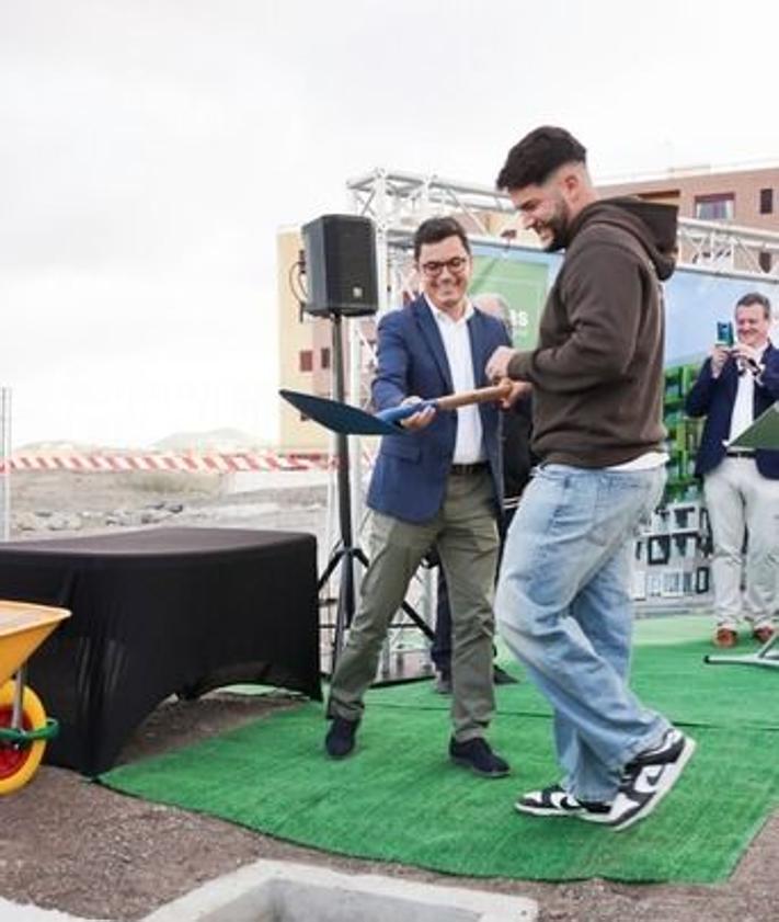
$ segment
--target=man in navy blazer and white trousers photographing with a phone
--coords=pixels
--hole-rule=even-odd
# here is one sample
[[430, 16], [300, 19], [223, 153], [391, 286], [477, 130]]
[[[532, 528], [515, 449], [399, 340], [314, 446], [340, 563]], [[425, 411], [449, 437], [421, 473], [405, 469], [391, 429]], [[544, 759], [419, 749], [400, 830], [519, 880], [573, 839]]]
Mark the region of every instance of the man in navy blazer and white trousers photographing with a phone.
[[[734, 647], [738, 621], [756, 640], [774, 635], [779, 576], [779, 451], [729, 448], [761, 412], [779, 400], [779, 350], [768, 331], [771, 306], [756, 292], [735, 308], [736, 343], [718, 343], [687, 395], [690, 417], [706, 416], [696, 459], [714, 543], [714, 644]], [[742, 596], [744, 530], [748, 532]]]

